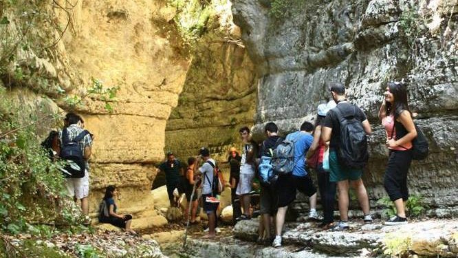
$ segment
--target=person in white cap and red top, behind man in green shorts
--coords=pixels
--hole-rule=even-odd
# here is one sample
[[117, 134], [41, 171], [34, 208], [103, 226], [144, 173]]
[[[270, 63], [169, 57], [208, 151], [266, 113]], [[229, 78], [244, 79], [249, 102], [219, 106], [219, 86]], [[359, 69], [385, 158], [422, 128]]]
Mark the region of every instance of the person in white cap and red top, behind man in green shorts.
[[[318, 116], [315, 120], [314, 141], [307, 152], [307, 165], [316, 170], [321, 205], [323, 206], [323, 222], [320, 227], [330, 228], [334, 223], [334, 202], [336, 202], [336, 182], [329, 181], [329, 172], [323, 169], [323, 155], [325, 142], [321, 140], [321, 126], [326, 118], [327, 111], [336, 107], [334, 100], [327, 104], [318, 105]], [[314, 157], [314, 158], [312, 158]], [[314, 162], [315, 164], [310, 164]]]

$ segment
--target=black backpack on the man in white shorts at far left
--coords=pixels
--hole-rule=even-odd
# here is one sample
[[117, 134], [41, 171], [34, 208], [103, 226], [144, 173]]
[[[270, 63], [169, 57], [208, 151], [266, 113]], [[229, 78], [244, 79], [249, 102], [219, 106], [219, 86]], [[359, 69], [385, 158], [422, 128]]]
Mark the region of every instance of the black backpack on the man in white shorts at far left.
[[89, 134], [89, 131], [84, 130], [70, 141], [67, 128], [62, 130], [62, 149], [60, 156], [63, 160], [72, 161], [61, 168], [65, 178], [83, 178], [85, 176], [86, 164], [79, 142], [87, 134]]

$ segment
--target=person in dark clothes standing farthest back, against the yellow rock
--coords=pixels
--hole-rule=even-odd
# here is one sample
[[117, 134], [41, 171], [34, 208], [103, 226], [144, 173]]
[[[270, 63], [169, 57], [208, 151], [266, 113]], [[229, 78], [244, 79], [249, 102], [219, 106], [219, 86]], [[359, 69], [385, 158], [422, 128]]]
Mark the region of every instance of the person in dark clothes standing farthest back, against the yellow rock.
[[164, 171], [166, 175], [166, 186], [167, 186], [167, 195], [168, 200], [170, 201], [170, 206], [175, 206], [173, 190], [177, 188], [179, 183], [179, 177], [183, 174], [183, 168], [181, 162], [175, 158], [173, 151], [167, 152], [166, 161], [160, 164], [157, 172]]

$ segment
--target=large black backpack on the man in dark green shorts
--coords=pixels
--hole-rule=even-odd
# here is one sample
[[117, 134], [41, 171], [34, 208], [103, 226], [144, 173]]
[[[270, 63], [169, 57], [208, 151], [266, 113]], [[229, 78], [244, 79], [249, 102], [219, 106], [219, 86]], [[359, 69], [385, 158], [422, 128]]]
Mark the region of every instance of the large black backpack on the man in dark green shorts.
[[362, 169], [369, 160], [367, 150], [367, 136], [362, 122], [356, 119], [356, 107], [353, 114], [343, 116], [339, 107], [335, 107], [337, 118], [340, 122], [340, 144], [337, 151], [339, 164], [349, 169]]

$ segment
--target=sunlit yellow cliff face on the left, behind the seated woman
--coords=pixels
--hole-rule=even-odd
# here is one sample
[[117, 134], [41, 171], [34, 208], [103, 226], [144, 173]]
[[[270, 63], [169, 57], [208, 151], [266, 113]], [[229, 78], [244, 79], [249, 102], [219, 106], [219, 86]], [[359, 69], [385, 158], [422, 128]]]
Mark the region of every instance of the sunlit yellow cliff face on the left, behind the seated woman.
[[39, 10], [60, 21], [62, 28], [69, 19], [69, 27], [55, 47], [40, 56], [25, 48], [17, 51], [22, 63], [15, 65], [28, 69], [30, 78], [47, 80], [47, 89], [40, 89], [38, 80], [16, 85], [28, 86], [38, 96], [52, 96], [65, 110], [67, 106], [53, 92], [57, 86], [65, 94], [78, 96], [85, 95], [93, 78], [105, 87], [119, 86], [116, 98], [110, 100], [111, 113], [97, 96], [76, 107], [95, 135], [90, 160], [91, 211], [98, 208], [105, 186], [116, 184], [122, 193], [120, 207], [132, 213], [151, 210], [149, 215], [154, 215], [153, 200], [149, 200], [153, 164], [164, 157], [166, 120], [177, 105], [190, 64], [172, 21], [176, 10], [164, 1], [73, 4], [43, 2], [43, 10]]

